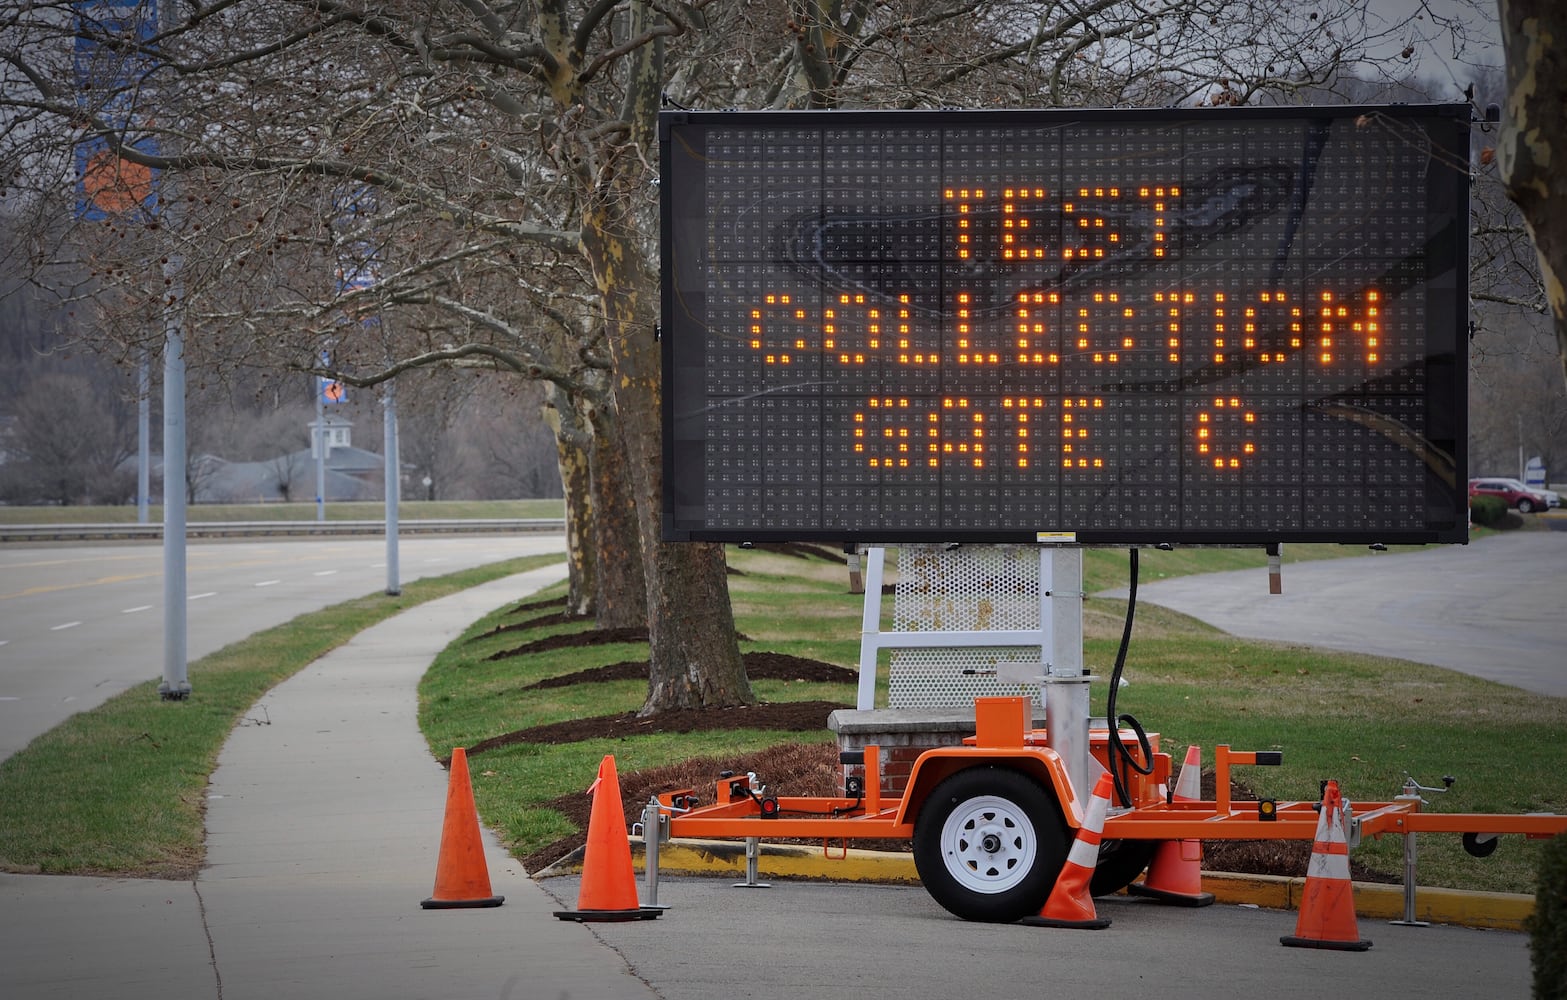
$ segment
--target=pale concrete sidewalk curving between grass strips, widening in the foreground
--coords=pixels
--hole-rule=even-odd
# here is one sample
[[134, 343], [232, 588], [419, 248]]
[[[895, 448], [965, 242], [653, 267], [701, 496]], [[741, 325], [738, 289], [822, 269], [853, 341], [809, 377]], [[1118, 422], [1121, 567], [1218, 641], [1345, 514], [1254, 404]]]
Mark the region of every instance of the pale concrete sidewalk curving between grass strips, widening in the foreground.
[[418, 906], [447, 793], [418, 679], [561, 572], [412, 608], [270, 691], [219, 755], [194, 882], [0, 875], [0, 997], [657, 997], [487, 832], [505, 906]]

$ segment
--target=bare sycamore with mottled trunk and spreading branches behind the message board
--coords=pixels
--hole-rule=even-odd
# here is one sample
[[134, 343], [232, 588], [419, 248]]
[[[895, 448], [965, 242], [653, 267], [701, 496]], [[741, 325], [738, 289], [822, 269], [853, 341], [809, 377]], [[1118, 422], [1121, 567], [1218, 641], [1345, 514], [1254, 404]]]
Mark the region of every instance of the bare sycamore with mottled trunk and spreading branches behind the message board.
[[135, 27], [147, 6], [0, 0], [19, 252], [91, 279], [124, 361], [177, 323], [190, 364], [241, 378], [545, 382], [574, 607], [646, 618], [646, 713], [754, 701], [722, 549], [660, 538], [661, 96], [1268, 103], [1417, 49], [1363, 0], [165, 0]]

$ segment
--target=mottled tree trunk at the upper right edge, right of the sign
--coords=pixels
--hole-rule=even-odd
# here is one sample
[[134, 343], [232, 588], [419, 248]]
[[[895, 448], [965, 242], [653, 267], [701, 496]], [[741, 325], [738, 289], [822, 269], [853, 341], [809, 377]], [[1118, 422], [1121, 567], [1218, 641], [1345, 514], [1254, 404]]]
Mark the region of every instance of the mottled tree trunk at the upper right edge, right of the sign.
[[1556, 346], [1567, 381], [1567, 6], [1501, 0], [1501, 47], [1507, 61], [1501, 180], [1523, 212], [1540, 259]]

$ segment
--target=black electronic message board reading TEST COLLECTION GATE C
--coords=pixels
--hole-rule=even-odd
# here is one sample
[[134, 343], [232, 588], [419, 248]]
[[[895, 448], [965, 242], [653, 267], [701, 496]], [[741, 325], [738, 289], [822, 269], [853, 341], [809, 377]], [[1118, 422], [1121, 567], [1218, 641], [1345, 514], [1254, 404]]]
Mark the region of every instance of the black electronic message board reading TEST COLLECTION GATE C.
[[668, 539], [1467, 538], [1464, 105], [660, 138]]

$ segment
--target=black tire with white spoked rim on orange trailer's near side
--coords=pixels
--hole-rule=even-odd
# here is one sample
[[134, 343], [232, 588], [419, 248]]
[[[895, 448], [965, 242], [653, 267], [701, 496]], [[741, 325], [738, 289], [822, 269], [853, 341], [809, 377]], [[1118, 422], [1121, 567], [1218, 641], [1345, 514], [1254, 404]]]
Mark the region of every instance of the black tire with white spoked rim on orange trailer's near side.
[[914, 824], [920, 881], [964, 920], [1011, 922], [1037, 914], [1066, 859], [1061, 809], [1020, 771], [957, 771], [931, 792]]

